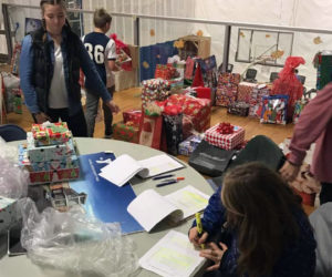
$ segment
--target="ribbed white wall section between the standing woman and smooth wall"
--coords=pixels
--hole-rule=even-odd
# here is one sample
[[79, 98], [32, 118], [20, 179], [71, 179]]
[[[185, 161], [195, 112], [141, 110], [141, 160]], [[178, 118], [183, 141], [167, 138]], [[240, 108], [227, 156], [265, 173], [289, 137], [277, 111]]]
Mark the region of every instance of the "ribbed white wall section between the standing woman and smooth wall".
[[[105, 8], [108, 12], [138, 13], [146, 16], [162, 17], [195, 17], [195, 0], [83, 0], [84, 10], [95, 10]], [[85, 17], [85, 16], [84, 16]], [[84, 31], [93, 28], [92, 17], [84, 19]], [[176, 22], [141, 19], [139, 22], [139, 44], [141, 47], [175, 40], [186, 35], [190, 29], [189, 24]], [[134, 43], [133, 18], [113, 17], [110, 32], [117, 34], [117, 38], [126, 43]]]

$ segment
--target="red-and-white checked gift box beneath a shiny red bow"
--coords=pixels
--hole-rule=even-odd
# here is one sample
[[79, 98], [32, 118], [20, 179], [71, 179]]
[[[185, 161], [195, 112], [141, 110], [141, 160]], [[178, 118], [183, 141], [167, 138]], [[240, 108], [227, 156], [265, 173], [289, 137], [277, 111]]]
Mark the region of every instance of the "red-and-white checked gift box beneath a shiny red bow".
[[245, 141], [245, 129], [240, 126], [234, 126], [231, 134], [220, 134], [218, 129], [219, 124], [207, 130], [204, 140], [224, 150], [232, 150]]

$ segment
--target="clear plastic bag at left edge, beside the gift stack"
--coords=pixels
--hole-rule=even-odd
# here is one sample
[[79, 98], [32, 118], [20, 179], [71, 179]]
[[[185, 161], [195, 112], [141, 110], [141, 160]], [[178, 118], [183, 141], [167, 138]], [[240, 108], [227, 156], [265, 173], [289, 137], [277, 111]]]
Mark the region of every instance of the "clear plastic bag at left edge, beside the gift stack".
[[18, 199], [27, 196], [29, 173], [18, 165], [18, 147], [0, 137], [0, 195]]

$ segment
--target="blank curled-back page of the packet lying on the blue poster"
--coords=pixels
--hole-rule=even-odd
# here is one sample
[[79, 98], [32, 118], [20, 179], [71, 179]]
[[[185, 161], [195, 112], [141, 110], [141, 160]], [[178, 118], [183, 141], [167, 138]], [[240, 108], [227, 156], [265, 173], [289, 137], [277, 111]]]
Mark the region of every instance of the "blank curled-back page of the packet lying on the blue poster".
[[116, 157], [101, 171], [100, 176], [117, 186], [123, 186], [141, 171], [143, 175], [148, 175], [148, 170], [143, 168], [137, 161], [127, 154]]

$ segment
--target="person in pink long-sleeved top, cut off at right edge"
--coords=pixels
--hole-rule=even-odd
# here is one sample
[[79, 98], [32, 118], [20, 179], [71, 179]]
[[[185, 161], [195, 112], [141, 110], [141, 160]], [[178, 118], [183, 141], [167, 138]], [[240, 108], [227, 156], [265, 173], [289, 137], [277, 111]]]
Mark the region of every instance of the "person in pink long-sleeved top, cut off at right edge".
[[321, 183], [320, 203], [332, 202], [332, 82], [325, 85], [302, 111], [290, 143], [288, 161], [280, 168], [292, 182], [310, 145], [315, 143], [311, 174]]

